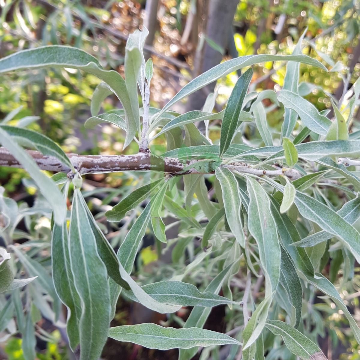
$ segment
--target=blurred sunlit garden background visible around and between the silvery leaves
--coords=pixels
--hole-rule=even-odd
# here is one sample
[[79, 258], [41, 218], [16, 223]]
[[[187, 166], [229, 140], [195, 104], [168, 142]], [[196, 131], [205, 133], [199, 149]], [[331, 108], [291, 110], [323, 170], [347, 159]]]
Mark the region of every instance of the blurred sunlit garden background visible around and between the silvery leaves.
[[[145, 56], [151, 57], [154, 63], [150, 104], [161, 108], [188, 81], [222, 61], [253, 54], [291, 54], [305, 32], [303, 53], [320, 60], [330, 71], [301, 64], [301, 95], [319, 110], [324, 110], [331, 108], [329, 94], [343, 99], [346, 90], [360, 76], [359, 13], [359, 0], [0, 0], [0, 58], [40, 45], [71, 45], [94, 55], [105, 69], [116, 69], [123, 74], [126, 39], [135, 29], [141, 30], [145, 26], [149, 30]], [[266, 62], [254, 66], [251, 91], [280, 89], [285, 65], [284, 62]], [[208, 85], [174, 109], [181, 113], [202, 109], [207, 95], [216, 91], [215, 109], [221, 111], [238, 75], [231, 73], [216, 84]], [[62, 145], [66, 152], [136, 153], [135, 143], [123, 152], [125, 134], [118, 129], [115, 131], [111, 125], [93, 130], [84, 128], [84, 122], [91, 116], [91, 96], [99, 82], [95, 76], [73, 69], [10, 73], [2, 76], [0, 81], [0, 119], [6, 119], [9, 125], [21, 123], [42, 132]], [[266, 105], [271, 106], [271, 103]], [[115, 96], [108, 97], [103, 103], [103, 112], [118, 108], [121, 104]], [[274, 129], [280, 130], [282, 119], [283, 111], [277, 108], [267, 112], [269, 126]], [[360, 109], [356, 120], [360, 120]], [[359, 126], [357, 122], [355, 127]], [[211, 139], [219, 139], [218, 125], [215, 123], [210, 127]], [[165, 137], [159, 137], [155, 145], [164, 145], [165, 140]], [[89, 206], [97, 214], [97, 220], [103, 222], [103, 231], [115, 248], [125, 237], [134, 215], [118, 226], [107, 223], [103, 213], [126, 195], [132, 185], [141, 185], [145, 181], [147, 179], [141, 172], [86, 177], [84, 191]], [[4, 186], [6, 196], [33, 205], [36, 186], [23, 170], [0, 167], [0, 185]], [[23, 227], [32, 236], [35, 236], [34, 232], [40, 236], [40, 231], [46, 238], [49, 224], [42, 219], [38, 215], [32, 225], [23, 224]], [[186, 260], [176, 260], [179, 265], [175, 270], [167, 267], [166, 259], [161, 258], [149, 234], [138, 258], [140, 282], [157, 281], [164, 271], [166, 274], [181, 273]], [[191, 276], [198, 275], [194, 272]], [[359, 276], [355, 277], [355, 283], [360, 288]], [[241, 291], [241, 286], [237, 290], [236, 284], [234, 286], [235, 292]], [[344, 297], [347, 295], [343, 294]], [[359, 320], [359, 301], [356, 296], [352, 301], [356, 302], [355, 315]], [[184, 309], [169, 320], [137, 303], [120, 300], [113, 325], [145, 321], [167, 324], [175, 321], [181, 325], [188, 311]], [[318, 341], [329, 360], [360, 359], [359, 346], [351, 333], [342, 329], [343, 320], [336, 317], [331, 304], [319, 304], [316, 311], [321, 314], [322, 324], [311, 326], [320, 327], [316, 329], [316, 333], [322, 335]], [[231, 329], [231, 323], [235, 321], [231, 316], [225, 306], [215, 307], [205, 328], [222, 332], [227, 327]], [[60, 339], [61, 333], [54, 331], [53, 337]], [[43, 347], [39, 359], [71, 358], [62, 348], [66, 345], [61, 341], [48, 341], [38, 346], [40, 350]], [[5, 350], [0, 352], [0, 359], [21, 359], [21, 356], [17, 338], [8, 341]], [[177, 359], [177, 351], [165, 354], [109, 341], [104, 359], [118, 356], [134, 360], [162, 359], [164, 356]]]

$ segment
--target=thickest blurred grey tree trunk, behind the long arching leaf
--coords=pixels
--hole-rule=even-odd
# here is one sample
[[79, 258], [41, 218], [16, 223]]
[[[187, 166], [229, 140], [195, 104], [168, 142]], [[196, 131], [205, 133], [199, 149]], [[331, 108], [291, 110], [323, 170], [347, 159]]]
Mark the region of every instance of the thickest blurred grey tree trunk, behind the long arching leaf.
[[[206, 24], [206, 36], [226, 48], [228, 43], [230, 25], [233, 23], [234, 13], [238, 5], [238, 0], [210, 0], [208, 7], [208, 19]], [[220, 64], [222, 54], [211, 48], [204, 42], [203, 48], [195, 53], [194, 57], [194, 77], [202, 74], [203, 72], [211, 69], [217, 64]], [[208, 93], [214, 89], [215, 82], [209, 84], [204, 89], [197, 91], [189, 96], [186, 104], [186, 111], [199, 110], [203, 107]]]

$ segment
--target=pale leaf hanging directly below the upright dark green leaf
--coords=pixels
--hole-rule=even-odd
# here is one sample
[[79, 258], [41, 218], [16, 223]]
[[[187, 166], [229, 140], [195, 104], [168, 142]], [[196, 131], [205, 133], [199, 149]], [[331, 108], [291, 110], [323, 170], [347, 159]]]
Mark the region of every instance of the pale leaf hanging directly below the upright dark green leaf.
[[236, 240], [241, 247], [244, 247], [245, 235], [240, 217], [241, 199], [236, 178], [226, 167], [217, 167], [215, 175], [221, 185], [226, 220], [228, 221], [231, 232], [234, 234]]

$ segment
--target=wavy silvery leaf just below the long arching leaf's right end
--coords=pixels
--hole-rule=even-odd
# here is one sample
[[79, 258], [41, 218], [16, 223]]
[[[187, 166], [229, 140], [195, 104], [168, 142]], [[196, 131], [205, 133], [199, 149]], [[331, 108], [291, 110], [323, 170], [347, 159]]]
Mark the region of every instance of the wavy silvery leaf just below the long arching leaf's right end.
[[320, 135], [327, 134], [331, 121], [327, 117], [319, 114], [318, 109], [316, 109], [313, 104], [303, 99], [300, 95], [288, 90], [280, 90], [278, 100], [284, 104], [285, 108], [296, 111], [301, 121], [310, 130]]

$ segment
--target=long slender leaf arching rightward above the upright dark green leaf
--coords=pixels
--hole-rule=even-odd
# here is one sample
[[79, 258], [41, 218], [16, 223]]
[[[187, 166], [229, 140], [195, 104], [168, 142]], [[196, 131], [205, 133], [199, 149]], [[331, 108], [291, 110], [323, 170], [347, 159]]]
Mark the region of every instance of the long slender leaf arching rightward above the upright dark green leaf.
[[[233, 71], [237, 71], [238, 69], [242, 69], [247, 66], [251, 66], [257, 63], [265, 62], [265, 61], [296, 61], [303, 64], [312, 65], [315, 67], [319, 67], [326, 71], [326, 68], [323, 64], [321, 64], [318, 60], [312, 59], [306, 55], [267, 55], [267, 54], [259, 54], [259, 55], [246, 55], [241, 56], [239, 58], [231, 59], [225, 61], [219, 65], [216, 65], [212, 69], [202, 73], [194, 80], [190, 81], [186, 84], [180, 91], [177, 93], [174, 98], [172, 98], [161, 110], [161, 113], [165, 112], [172, 105], [174, 105], [179, 100], [185, 98], [186, 96], [194, 93], [195, 91], [201, 89], [202, 87], [211, 84], [217, 79], [228, 75]], [[159, 114], [161, 114], [159, 113]]]

